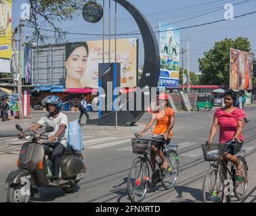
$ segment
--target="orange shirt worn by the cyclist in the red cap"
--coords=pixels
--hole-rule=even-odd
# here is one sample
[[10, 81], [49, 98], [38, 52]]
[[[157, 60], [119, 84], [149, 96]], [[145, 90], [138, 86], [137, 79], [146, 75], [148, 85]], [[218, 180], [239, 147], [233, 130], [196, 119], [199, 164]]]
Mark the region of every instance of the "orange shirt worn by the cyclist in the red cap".
[[[165, 113], [153, 113], [153, 117], [156, 118], [156, 127], [154, 128], [153, 134], [163, 134], [167, 131], [170, 126], [170, 119], [172, 116], [175, 116], [173, 109], [167, 107]], [[169, 138], [173, 137], [173, 132], [170, 130]]]

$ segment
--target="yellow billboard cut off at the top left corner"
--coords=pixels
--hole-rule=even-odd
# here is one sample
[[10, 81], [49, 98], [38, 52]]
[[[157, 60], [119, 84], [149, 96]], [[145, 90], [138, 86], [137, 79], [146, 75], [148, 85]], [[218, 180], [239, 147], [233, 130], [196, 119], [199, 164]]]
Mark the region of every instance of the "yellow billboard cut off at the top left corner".
[[12, 58], [12, 0], [0, 0], [0, 58]]

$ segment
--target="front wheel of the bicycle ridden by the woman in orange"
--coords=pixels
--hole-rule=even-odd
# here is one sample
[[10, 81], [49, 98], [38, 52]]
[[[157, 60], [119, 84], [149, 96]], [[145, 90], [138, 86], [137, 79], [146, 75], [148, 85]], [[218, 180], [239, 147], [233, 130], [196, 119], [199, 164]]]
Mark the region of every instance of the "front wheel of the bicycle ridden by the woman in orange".
[[148, 163], [137, 159], [129, 171], [127, 189], [131, 202], [142, 202], [147, 192], [150, 172]]

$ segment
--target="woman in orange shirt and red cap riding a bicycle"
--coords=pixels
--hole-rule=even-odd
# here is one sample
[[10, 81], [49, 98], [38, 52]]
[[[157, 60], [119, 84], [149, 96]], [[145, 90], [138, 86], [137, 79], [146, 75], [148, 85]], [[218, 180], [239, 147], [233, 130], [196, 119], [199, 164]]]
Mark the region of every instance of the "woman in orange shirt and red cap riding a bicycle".
[[[160, 109], [158, 109], [158, 111], [152, 111], [152, 119], [150, 120], [146, 128], [142, 130], [142, 132], [140, 132], [138, 136], [142, 137], [143, 134], [153, 126], [156, 120], [156, 126], [154, 128], [153, 138], [163, 136], [163, 140], [169, 143], [172, 138], [172, 128], [174, 126], [175, 113], [173, 109], [171, 109], [171, 106], [169, 105], [169, 97], [167, 94], [165, 93], [160, 94], [157, 101], [159, 101], [159, 99], [161, 101], [164, 101], [162, 104], [159, 104], [160, 107], [161, 106], [164, 107], [163, 111], [160, 111]], [[161, 138], [156, 138], [156, 139], [160, 140]], [[165, 160], [165, 156], [161, 151], [162, 145], [163, 145], [163, 142], [156, 142], [152, 145], [152, 156], [155, 158], [156, 155], [158, 155], [163, 161], [163, 165], [161, 166], [161, 168], [167, 169], [169, 166], [169, 163]], [[150, 161], [153, 167], [156, 167], [156, 162], [154, 161], [154, 159], [150, 157]]]

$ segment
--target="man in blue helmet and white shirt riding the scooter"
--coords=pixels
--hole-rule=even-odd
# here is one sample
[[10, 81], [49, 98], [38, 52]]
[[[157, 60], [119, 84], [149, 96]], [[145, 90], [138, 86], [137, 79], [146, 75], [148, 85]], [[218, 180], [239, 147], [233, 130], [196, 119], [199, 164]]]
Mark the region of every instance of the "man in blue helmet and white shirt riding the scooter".
[[[52, 126], [54, 127], [54, 132], [50, 132], [49, 142], [53, 142], [51, 148], [54, 148], [54, 151], [51, 153], [51, 161], [53, 162], [53, 172], [54, 172], [54, 180], [53, 184], [59, 184], [59, 173], [60, 173], [60, 163], [62, 161], [62, 156], [67, 147], [67, 130], [68, 127], [68, 117], [60, 112], [60, 108], [62, 106], [62, 101], [60, 97], [55, 95], [51, 95], [45, 97], [42, 101], [42, 105], [46, 106], [49, 115], [45, 115], [42, 117], [37, 124], [30, 127], [28, 130], [38, 130], [45, 126], [45, 128]], [[44, 145], [45, 151], [49, 146]]]

